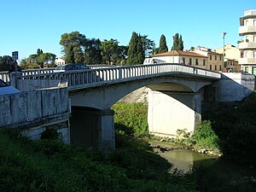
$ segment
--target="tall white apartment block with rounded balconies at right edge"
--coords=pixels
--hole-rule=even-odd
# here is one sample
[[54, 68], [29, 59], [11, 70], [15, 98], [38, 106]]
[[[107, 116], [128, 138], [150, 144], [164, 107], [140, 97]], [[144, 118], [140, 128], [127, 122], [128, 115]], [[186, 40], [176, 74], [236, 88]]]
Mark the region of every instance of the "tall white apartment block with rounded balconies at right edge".
[[247, 10], [240, 18], [239, 65], [244, 72], [256, 74], [256, 9]]

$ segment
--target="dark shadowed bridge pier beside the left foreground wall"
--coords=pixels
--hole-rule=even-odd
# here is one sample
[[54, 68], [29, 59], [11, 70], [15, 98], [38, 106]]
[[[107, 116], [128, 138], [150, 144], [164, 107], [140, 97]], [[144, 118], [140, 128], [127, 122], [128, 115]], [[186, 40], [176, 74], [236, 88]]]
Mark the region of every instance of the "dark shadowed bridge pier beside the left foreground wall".
[[115, 149], [113, 110], [72, 107], [70, 137], [72, 144], [97, 148], [104, 152]]

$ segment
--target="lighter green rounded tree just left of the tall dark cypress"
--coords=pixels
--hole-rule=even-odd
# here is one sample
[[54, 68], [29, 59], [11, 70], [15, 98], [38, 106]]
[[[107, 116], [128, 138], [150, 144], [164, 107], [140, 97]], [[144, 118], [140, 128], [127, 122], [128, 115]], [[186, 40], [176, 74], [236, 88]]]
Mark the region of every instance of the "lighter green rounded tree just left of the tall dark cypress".
[[116, 39], [105, 39], [100, 49], [102, 50], [102, 61], [108, 65], [115, 64], [119, 58], [119, 42]]

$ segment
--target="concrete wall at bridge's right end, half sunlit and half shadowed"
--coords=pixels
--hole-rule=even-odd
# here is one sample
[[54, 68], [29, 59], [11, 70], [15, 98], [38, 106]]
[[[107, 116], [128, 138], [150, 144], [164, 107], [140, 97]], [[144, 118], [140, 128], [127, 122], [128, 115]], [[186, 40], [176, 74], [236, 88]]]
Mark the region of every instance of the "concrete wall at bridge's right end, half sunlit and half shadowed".
[[217, 83], [217, 102], [239, 102], [253, 92], [254, 86], [252, 74], [222, 73]]

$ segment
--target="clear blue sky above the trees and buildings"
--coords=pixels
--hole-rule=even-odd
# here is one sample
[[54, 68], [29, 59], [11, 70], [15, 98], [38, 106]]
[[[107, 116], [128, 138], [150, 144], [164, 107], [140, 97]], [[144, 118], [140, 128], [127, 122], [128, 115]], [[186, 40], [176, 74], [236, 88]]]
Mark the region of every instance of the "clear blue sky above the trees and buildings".
[[114, 38], [128, 45], [131, 33], [148, 35], [159, 46], [166, 36], [169, 49], [172, 35], [183, 36], [184, 49], [234, 44], [239, 18], [247, 9], [256, 9], [255, 0], [0, 0], [0, 56], [19, 51], [19, 59], [37, 49], [61, 54], [61, 35], [78, 31], [86, 38]]

